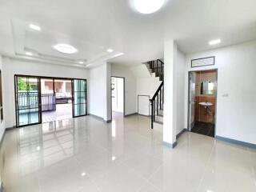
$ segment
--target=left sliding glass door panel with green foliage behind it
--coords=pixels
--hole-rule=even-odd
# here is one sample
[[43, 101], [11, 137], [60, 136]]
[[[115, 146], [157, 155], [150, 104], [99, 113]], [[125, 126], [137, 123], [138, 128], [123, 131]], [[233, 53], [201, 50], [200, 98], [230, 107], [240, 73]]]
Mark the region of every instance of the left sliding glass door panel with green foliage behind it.
[[15, 75], [15, 102], [17, 126], [41, 123], [40, 79]]

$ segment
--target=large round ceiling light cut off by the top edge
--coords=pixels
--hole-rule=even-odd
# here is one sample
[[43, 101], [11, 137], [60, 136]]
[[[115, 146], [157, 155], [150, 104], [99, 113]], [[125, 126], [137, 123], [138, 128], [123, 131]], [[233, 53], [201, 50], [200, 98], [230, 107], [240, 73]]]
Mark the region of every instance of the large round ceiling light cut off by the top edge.
[[134, 0], [134, 7], [141, 14], [152, 14], [161, 9], [165, 0]]

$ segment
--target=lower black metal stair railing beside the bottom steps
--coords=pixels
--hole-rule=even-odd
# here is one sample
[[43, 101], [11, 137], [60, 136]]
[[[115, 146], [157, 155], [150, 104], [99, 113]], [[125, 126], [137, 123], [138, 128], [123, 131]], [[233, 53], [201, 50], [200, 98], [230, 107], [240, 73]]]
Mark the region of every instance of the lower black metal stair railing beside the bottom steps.
[[151, 104], [151, 129], [154, 128], [155, 116], [159, 114], [159, 110], [163, 110], [164, 94], [163, 94], [163, 82], [158, 87], [158, 90], [150, 99]]

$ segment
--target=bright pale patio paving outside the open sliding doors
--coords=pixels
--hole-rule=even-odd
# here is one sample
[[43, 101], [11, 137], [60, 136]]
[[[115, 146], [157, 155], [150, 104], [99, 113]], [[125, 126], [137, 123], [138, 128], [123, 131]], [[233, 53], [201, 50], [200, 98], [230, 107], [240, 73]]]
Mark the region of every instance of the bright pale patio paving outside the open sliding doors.
[[54, 122], [62, 119], [72, 118], [72, 104], [58, 104], [56, 110], [42, 112], [42, 122]]

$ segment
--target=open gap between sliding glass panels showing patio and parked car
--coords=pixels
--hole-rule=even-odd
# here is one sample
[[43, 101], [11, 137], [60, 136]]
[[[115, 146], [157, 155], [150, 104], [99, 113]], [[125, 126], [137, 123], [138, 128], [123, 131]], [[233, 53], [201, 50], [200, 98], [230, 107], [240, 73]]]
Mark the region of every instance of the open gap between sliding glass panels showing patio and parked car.
[[41, 78], [42, 122], [72, 118], [71, 79]]

